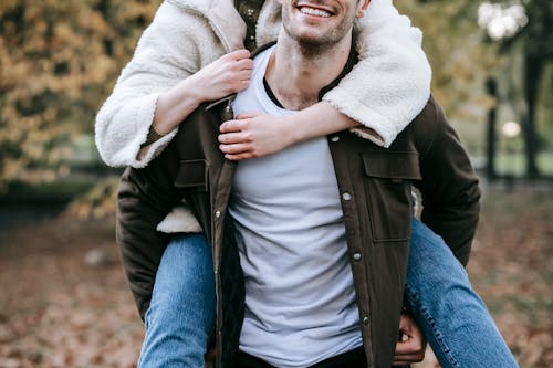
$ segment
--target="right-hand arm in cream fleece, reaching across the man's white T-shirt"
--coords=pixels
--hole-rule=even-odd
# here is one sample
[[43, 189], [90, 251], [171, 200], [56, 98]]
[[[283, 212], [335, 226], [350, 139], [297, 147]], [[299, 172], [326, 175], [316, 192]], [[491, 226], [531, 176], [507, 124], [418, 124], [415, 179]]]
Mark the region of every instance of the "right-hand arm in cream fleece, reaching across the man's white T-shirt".
[[[279, 22], [279, 6], [268, 2], [258, 24], [258, 31], [265, 33], [258, 40], [272, 40]], [[284, 118], [247, 115], [241, 116], [243, 122], [223, 124], [220, 148], [227, 157], [265, 156], [347, 128], [388, 147], [430, 96], [431, 70], [421, 49], [421, 32], [390, 0], [373, 1], [356, 32], [361, 61], [323, 102]]]

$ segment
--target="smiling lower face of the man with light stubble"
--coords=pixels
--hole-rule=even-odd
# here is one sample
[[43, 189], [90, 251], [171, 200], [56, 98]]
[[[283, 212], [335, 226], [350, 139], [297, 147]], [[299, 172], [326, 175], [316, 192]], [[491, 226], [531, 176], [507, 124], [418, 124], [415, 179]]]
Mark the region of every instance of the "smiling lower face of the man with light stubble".
[[362, 17], [369, 0], [280, 0], [284, 31], [305, 45], [341, 41]]

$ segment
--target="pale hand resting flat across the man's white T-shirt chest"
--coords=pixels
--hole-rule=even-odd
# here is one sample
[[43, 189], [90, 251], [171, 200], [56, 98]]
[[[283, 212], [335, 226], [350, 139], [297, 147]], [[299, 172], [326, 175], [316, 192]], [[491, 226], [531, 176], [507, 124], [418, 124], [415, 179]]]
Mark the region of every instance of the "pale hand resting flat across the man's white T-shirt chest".
[[268, 156], [294, 143], [285, 118], [251, 113], [221, 124], [219, 149], [229, 160]]

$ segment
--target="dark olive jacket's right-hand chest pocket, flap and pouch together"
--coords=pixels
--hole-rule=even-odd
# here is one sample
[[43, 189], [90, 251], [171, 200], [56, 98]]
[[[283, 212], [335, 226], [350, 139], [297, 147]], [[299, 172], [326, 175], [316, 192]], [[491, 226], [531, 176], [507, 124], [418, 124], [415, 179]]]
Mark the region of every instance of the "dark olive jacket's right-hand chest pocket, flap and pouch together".
[[365, 189], [374, 242], [405, 242], [413, 218], [411, 182], [420, 180], [416, 153], [364, 153]]

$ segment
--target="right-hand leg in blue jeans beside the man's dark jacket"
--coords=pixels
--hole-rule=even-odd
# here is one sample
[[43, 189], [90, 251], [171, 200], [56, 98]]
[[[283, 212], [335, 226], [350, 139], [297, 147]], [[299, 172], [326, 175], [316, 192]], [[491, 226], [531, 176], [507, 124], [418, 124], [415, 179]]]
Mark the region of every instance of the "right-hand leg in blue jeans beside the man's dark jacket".
[[418, 220], [413, 222], [406, 294], [442, 368], [518, 367], [462, 265]]

